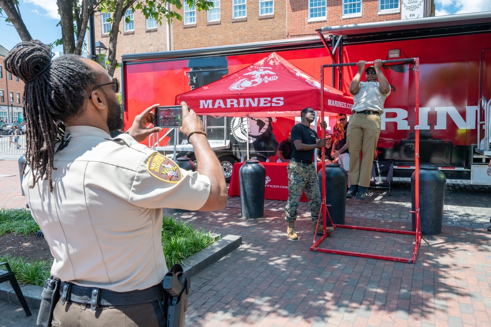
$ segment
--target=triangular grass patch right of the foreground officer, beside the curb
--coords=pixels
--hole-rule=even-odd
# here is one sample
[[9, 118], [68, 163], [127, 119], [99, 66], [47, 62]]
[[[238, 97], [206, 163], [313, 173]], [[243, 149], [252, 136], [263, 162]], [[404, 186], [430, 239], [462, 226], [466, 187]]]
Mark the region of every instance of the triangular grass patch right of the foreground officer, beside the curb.
[[215, 242], [211, 233], [164, 215], [162, 244], [167, 267], [181, 263]]

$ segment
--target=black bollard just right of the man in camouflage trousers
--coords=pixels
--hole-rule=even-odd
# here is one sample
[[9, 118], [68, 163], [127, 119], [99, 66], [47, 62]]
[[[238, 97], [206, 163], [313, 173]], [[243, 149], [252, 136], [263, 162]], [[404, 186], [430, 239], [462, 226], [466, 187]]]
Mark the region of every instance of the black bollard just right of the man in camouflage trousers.
[[[346, 187], [348, 183], [348, 174], [340, 164], [326, 164], [326, 205], [329, 210], [332, 222], [334, 224], [345, 223], [346, 213]], [[319, 190], [322, 195], [322, 169], [319, 170]], [[329, 218], [326, 217], [326, 224], [330, 226]]]

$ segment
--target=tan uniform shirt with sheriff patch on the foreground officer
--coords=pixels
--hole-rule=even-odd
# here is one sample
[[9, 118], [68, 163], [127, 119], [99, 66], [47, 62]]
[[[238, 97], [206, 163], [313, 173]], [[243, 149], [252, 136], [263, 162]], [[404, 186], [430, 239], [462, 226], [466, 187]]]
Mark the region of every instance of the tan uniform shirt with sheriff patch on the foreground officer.
[[167, 273], [162, 209], [201, 208], [210, 181], [131, 136], [70, 126], [47, 180], [23, 179], [32, 215], [52, 249], [52, 274], [65, 282], [126, 292], [158, 284]]

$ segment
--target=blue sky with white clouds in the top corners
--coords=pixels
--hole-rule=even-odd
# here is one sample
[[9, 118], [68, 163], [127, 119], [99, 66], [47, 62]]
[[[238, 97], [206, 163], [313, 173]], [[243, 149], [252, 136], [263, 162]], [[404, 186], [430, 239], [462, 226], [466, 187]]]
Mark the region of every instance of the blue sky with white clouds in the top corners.
[[[56, 0], [19, 0], [19, 8], [26, 26], [35, 39], [53, 43], [61, 38]], [[491, 11], [491, 0], [435, 0], [436, 16]], [[14, 27], [0, 18], [0, 44], [7, 50], [21, 41]], [[62, 51], [61, 46], [54, 51]]]

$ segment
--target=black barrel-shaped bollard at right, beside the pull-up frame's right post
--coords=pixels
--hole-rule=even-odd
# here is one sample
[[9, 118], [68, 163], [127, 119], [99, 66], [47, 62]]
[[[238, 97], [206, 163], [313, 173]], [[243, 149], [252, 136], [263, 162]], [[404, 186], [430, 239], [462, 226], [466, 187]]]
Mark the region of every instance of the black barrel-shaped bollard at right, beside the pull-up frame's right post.
[[[416, 208], [416, 172], [411, 175], [411, 208]], [[441, 233], [443, 203], [445, 199], [445, 175], [432, 165], [419, 167], [419, 216], [421, 234]], [[416, 230], [416, 215], [412, 214], [412, 230]]]

